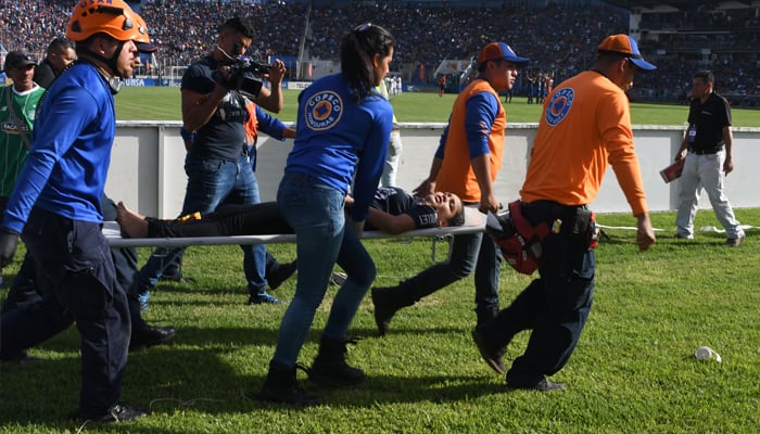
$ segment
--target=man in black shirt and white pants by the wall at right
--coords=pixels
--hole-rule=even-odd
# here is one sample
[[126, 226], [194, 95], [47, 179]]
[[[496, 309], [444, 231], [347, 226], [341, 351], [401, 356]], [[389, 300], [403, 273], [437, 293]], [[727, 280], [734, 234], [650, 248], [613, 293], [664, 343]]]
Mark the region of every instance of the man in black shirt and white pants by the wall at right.
[[715, 77], [711, 71], [696, 73], [693, 82], [688, 128], [675, 154], [676, 162], [686, 158], [680, 178], [675, 237], [694, 238], [694, 217], [699, 193], [705, 189], [718, 221], [725, 228], [726, 244], [737, 247], [745, 233], [723, 192], [724, 178], [734, 170], [731, 107], [725, 98], [715, 93]]

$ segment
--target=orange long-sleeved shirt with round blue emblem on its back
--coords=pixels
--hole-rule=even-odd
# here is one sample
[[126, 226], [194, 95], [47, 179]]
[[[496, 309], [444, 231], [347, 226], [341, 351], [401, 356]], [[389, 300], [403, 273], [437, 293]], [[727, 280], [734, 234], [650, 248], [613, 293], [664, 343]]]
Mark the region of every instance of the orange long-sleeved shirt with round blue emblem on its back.
[[647, 212], [628, 97], [607, 77], [588, 71], [546, 98], [520, 196], [524, 202], [590, 204], [608, 165], [633, 214]]

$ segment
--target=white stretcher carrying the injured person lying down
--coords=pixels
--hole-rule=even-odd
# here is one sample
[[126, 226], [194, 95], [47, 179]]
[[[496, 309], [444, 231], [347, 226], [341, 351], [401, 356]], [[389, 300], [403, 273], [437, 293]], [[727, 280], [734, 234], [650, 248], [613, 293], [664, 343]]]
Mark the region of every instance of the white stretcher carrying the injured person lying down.
[[[478, 233], [485, 230], [485, 214], [476, 208], [465, 208], [465, 225], [453, 227], [440, 227], [416, 229], [397, 235], [383, 231], [365, 231], [363, 240], [383, 238], [398, 238], [411, 240], [419, 237], [433, 237], [444, 239], [446, 237]], [[294, 233], [279, 233], [268, 235], [236, 235], [236, 237], [197, 237], [197, 238], [123, 238], [116, 221], [103, 222], [103, 235], [112, 247], [187, 247], [191, 245], [238, 245], [238, 244], [273, 244], [294, 243]]]

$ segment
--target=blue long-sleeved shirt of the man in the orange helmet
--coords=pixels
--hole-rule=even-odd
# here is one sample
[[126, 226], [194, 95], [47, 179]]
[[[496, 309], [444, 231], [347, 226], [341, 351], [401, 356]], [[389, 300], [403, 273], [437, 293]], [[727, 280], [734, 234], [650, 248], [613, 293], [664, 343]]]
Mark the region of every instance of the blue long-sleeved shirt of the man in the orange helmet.
[[45, 97], [3, 227], [22, 232], [33, 206], [73, 220], [103, 221], [100, 201], [115, 133], [111, 87], [80, 61]]

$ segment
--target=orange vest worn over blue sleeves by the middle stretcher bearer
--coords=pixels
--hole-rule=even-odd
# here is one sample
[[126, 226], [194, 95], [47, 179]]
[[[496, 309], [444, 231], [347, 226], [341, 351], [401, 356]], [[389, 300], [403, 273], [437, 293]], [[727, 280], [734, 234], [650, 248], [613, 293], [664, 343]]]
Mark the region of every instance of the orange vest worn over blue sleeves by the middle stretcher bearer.
[[[465, 130], [467, 117], [467, 100], [476, 93], [489, 92], [498, 101], [498, 94], [486, 80], [478, 79], [459, 93], [452, 116], [448, 120], [448, 133], [443, 148], [444, 157], [441, 169], [435, 178], [435, 190], [455, 193], [464, 202], [480, 202], [480, 186], [470, 163], [470, 151]], [[483, 131], [489, 140], [489, 161], [491, 163], [491, 182], [496, 179], [498, 169], [502, 168], [504, 154], [504, 130], [507, 127], [507, 115], [502, 104], [494, 118], [491, 129]], [[464, 182], [463, 182], [464, 180]]]

